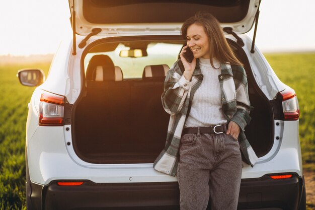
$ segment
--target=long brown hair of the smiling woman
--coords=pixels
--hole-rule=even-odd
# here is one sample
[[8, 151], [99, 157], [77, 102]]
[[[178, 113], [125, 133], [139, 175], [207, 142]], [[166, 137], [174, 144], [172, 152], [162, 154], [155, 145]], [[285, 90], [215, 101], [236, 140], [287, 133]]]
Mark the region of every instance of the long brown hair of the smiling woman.
[[[210, 58], [216, 57], [216, 59], [221, 63], [243, 65], [228, 45], [219, 21], [210, 13], [197, 12], [195, 16], [188, 18], [181, 28], [181, 34], [184, 39], [187, 39], [186, 36], [188, 27], [194, 23], [203, 26], [204, 31], [208, 36], [210, 44]], [[214, 67], [213, 59], [210, 59], [210, 63], [212, 67]]]

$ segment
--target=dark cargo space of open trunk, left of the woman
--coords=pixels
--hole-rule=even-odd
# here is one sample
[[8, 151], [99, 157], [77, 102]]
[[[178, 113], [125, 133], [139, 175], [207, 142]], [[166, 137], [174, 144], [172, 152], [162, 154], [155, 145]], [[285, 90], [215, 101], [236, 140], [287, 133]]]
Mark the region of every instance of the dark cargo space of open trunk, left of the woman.
[[81, 158], [152, 163], [165, 145], [169, 119], [161, 104], [163, 82], [156, 84], [126, 81], [111, 93], [87, 93], [75, 111], [75, 146]]

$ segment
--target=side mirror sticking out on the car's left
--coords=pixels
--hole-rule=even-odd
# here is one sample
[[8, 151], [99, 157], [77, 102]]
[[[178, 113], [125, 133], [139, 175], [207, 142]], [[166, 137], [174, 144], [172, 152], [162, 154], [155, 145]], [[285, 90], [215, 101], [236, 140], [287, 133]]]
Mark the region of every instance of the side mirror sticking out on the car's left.
[[40, 68], [24, 68], [18, 71], [20, 83], [25, 86], [35, 87], [45, 81], [45, 73]]

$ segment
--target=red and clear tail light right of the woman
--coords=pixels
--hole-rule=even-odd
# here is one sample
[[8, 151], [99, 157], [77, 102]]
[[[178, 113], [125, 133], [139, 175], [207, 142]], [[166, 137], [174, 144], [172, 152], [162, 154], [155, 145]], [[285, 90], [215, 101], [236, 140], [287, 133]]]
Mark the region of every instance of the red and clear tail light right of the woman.
[[298, 120], [300, 116], [300, 109], [294, 90], [287, 88], [280, 92], [280, 94], [282, 96], [284, 120]]

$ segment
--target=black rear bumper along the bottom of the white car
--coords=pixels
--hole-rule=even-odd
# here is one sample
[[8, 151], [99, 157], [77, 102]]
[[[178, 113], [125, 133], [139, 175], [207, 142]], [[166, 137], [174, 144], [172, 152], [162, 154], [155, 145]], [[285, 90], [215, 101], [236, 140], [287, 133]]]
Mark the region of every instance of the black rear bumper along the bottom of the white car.
[[[84, 181], [84, 180], [83, 180]], [[238, 209], [297, 210], [303, 178], [242, 180]], [[59, 186], [27, 183], [28, 209], [179, 209], [177, 182], [94, 183]], [[208, 208], [207, 208], [208, 209]]]

